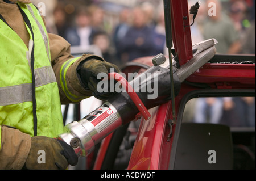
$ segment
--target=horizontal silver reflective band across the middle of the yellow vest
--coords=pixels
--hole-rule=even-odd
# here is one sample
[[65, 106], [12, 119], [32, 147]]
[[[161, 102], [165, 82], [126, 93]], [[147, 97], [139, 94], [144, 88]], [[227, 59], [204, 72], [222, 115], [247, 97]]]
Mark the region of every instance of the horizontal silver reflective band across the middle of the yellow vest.
[[[36, 87], [56, 82], [51, 66], [35, 69]], [[0, 87], [0, 106], [32, 101], [32, 83]]]

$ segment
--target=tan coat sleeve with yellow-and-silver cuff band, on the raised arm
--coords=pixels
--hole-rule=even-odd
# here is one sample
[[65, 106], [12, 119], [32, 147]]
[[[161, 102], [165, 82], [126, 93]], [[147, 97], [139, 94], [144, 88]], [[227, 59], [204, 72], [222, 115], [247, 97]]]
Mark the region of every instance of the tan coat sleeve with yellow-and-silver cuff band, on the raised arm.
[[77, 68], [81, 62], [86, 60], [105, 60], [92, 54], [73, 57], [70, 52], [70, 44], [63, 37], [51, 33], [48, 33], [48, 37], [52, 68], [59, 86], [61, 104], [79, 103], [82, 99], [92, 96], [92, 92], [86, 90], [81, 84]]

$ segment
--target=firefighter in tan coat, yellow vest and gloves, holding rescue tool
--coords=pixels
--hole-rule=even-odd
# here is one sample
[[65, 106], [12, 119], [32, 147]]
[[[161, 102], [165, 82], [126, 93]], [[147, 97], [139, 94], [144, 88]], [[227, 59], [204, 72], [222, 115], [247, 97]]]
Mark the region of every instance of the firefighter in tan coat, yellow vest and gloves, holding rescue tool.
[[0, 29], [0, 169], [76, 165], [75, 151], [56, 139], [65, 129], [61, 104], [108, 98], [96, 75], [118, 67], [92, 54], [72, 57], [30, 0], [0, 0]]

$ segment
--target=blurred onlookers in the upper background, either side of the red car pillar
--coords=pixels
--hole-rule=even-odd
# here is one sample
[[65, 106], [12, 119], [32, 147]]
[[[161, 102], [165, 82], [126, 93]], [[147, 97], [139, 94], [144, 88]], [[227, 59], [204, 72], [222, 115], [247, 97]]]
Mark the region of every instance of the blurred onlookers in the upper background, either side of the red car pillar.
[[[72, 47], [96, 45], [106, 61], [118, 66], [143, 56], [167, 54], [163, 1], [139, 1], [134, 6], [103, 6], [102, 1], [45, 1], [47, 29]], [[37, 5], [42, 0], [33, 0]], [[117, 1], [118, 2], [118, 1]], [[188, 8], [197, 1], [189, 0]], [[255, 54], [254, 0], [201, 0], [192, 43], [215, 38], [217, 53]], [[216, 5], [216, 15], [209, 11]], [[40, 8], [40, 7], [39, 7]]]

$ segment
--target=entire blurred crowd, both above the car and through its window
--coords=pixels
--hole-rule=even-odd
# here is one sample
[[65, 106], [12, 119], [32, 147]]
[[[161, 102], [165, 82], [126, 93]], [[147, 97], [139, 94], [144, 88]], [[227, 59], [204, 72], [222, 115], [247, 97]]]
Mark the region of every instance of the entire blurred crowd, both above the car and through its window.
[[[168, 54], [162, 0], [134, 0], [130, 6], [104, 0], [32, 2], [44, 3], [39, 10], [45, 10], [48, 32], [82, 47], [81, 53], [93, 46], [119, 67], [135, 58]], [[188, 9], [196, 2], [188, 0]], [[255, 54], [255, 0], [201, 0], [191, 36], [192, 44], [215, 38], [220, 54]], [[255, 98], [199, 98], [187, 107], [186, 121], [255, 127]]]

